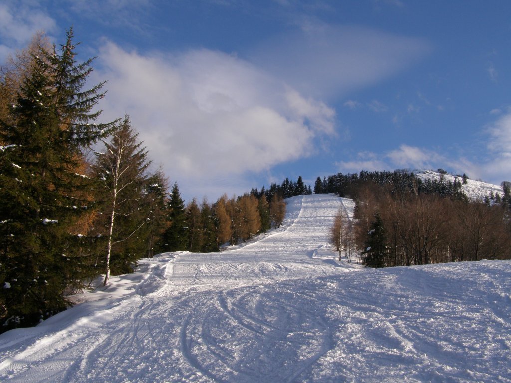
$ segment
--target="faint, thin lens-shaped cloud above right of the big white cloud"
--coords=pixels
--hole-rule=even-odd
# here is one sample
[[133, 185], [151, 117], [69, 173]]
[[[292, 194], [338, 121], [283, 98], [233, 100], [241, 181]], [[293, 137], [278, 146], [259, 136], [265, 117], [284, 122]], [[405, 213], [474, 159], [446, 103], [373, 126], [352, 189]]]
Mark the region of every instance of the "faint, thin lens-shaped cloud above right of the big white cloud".
[[273, 37], [252, 52], [251, 61], [300, 92], [331, 98], [397, 74], [429, 51], [422, 39], [316, 23]]

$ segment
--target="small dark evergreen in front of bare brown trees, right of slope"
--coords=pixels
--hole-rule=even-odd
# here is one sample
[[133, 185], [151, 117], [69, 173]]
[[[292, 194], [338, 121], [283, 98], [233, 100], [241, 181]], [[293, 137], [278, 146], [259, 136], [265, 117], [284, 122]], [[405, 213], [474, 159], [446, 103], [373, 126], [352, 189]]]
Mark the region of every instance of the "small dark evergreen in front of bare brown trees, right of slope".
[[375, 214], [365, 241], [365, 251], [362, 252], [363, 263], [367, 267], [381, 268], [387, 264], [388, 247], [387, 232], [380, 214]]

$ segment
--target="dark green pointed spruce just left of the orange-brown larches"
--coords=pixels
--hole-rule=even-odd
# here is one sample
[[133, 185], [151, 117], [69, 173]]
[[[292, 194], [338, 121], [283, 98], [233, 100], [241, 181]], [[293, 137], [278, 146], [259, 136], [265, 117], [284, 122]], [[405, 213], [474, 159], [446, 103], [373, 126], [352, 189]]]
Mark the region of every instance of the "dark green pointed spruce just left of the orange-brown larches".
[[184, 202], [179, 194], [177, 182], [174, 182], [172, 186], [168, 208], [170, 226], [164, 233], [165, 251], [187, 250], [188, 230], [186, 225], [186, 211], [184, 209]]

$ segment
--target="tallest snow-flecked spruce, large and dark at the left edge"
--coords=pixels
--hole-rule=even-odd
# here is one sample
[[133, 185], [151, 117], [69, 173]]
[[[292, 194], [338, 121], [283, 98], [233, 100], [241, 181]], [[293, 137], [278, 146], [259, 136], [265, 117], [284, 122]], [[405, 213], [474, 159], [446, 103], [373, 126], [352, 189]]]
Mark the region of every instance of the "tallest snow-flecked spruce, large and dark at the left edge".
[[77, 64], [75, 57], [72, 31], [60, 51], [41, 48], [1, 122], [2, 329], [64, 309], [69, 286], [90, 276], [92, 254], [82, 252], [87, 246], [76, 234], [93, 201], [91, 183], [79, 170], [83, 149], [112, 124], [90, 124], [101, 113], [91, 110], [103, 84], [83, 90], [92, 59]]

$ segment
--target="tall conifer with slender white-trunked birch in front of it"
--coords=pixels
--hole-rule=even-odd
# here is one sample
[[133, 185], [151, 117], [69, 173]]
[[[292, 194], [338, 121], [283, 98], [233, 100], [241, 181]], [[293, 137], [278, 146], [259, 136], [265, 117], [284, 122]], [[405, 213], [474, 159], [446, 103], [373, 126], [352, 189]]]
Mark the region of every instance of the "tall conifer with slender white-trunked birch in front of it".
[[139, 234], [151, 219], [148, 204], [142, 203], [146, 199], [145, 172], [150, 161], [137, 136], [125, 115], [111, 140], [104, 141], [105, 151], [97, 152], [96, 170], [103, 181], [103, 217], [107, 218], [105, 285], [112, 269], [117, 273], [130, 272], [134, 262], [146, 254], [146, 238], [142, 240]]

